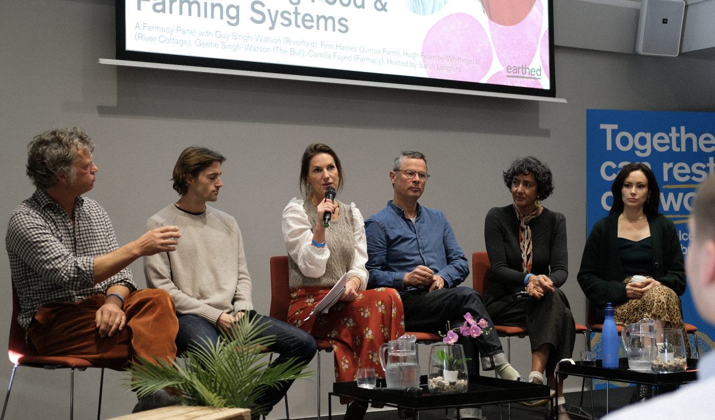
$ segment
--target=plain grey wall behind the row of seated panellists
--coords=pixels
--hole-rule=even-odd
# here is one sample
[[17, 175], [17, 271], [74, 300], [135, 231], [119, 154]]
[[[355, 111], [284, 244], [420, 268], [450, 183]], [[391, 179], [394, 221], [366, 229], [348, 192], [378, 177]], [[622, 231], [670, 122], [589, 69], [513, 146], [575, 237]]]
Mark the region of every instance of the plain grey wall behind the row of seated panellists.
[[[427, 154], [433, 177], [420, 202], [445, 212], [469, 256], [485, 249], [488, 209], [511, 201], [501, 171], [515, 156], [546, 161], [556, 191], [545, 205], [568, 220], [571, 276], [563, 290], [576, 321], [585, 323], [576, 272], [586, 240], [586, 109], [713, 111], [712, 61], [566, 47], [556, 49], [556, 86], [568, 104], [103, 66], [98, 58], [114, 58], [112, 0], [2, 1], [0, 39], [0, 214], [9, 217], [32, 194], [24, 174], [26, 144], [53, 126], [82, 126], [97, 142], [97, 183], [87, 195], [107, 209], [120, 244], [136, 239], [149, 216], [177, 199], [169, 178], [184, 147], [218, 149], [229, 160], [216, 205], [242, 228], [254, 304], [264, 314], [270, 306], [268, 259], [285, 254], [280, 215], [299, 194], [300, 154], [310, 142], [322, 141], [345, 166], [340, 198], [355, 201], [365, 216], [392, 196], [393, 156], [402, 149]], [[143, 286], [141, 261], [131, 268]], [[9, 321], [6, 258], [0, 259], [0, 279], [6, 291], [0, 319]], [[0, 349], [7, 333], [8, 323], [0, 323]], [[513, 344], [513, 363], [528, 374], [528, 341]], [[581, 349], [577, 337], [575, 353]], [[1, 359], [0, 387], [12, 367]], [[332, 383], [332, 359], [322, 362], [325, 390]], [[99, 372], [76, 376], [77, 419], [93, 418]], [[120, 385], [126, 378], [108, 372], [103, 418], [132, 409], [136, 400]], [[569, 379], [567, 385], [576, 389], [580, 382]], [[298, 381], [289, 396], [292, 416], [315, 416], [315, 379]], [[8, 418], [64, 417], [67, 399], [68, 371], [21, 368]], [[277, 408], [270, 418], [284, 416]]]

